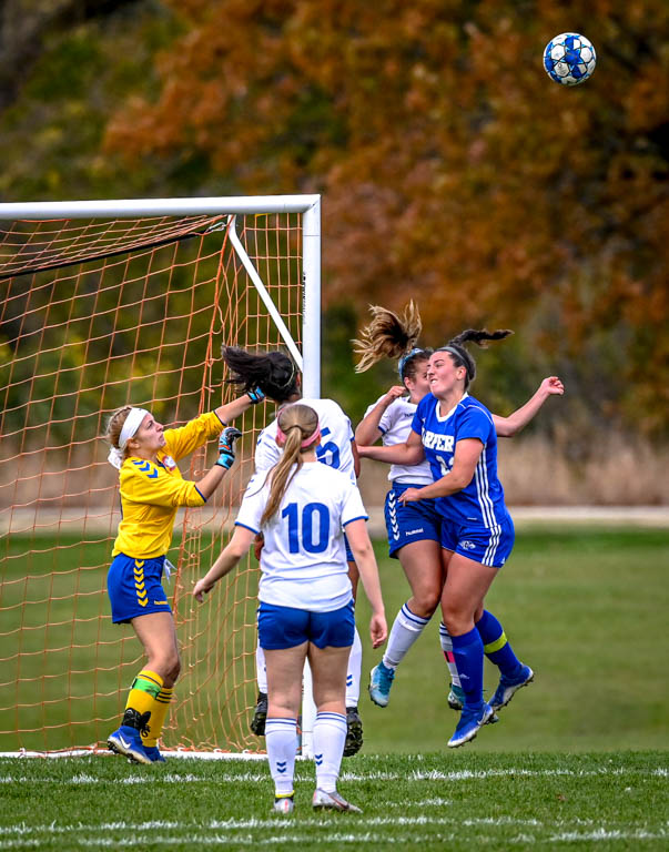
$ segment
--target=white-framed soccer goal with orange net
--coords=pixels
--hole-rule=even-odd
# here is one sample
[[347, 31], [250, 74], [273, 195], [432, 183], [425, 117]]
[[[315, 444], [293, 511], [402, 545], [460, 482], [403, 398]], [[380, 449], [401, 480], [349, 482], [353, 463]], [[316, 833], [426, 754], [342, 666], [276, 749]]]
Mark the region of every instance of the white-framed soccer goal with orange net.
[[[234, 397], [221, 345], [283, 347], [318, 395], [318, 196], [0, 204], [0, 751], [101, 744], [143, 656], [105, 591], [120, 519], [101, 439], [132, 403], [181, 425]], [[166, 748], [254, 750], [253, 557], [191, 589], [232, 529], [271, 406], [239, 463], [181, 510], [166, 585], [182, 674]], [[215, 447], [181, 463], [196, 479]], [[190, 466], [189, 466], [190, 465]]]

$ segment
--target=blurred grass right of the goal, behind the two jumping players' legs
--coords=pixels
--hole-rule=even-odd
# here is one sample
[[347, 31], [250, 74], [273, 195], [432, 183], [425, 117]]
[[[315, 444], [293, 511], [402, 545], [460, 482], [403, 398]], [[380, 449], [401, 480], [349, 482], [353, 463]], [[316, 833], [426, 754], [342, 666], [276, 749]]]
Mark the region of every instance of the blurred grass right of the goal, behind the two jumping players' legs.
[[[379, 552], [385, 552], [379, 548]], [[408, 597], [396, 560], [381, 562], [391, 620]], [[488, 594], [536, 681], [487, 727], [475, 748], [499, 751], [668, 749], [667, 656], [669, 530], [566, 527], [520, 529], [509, 562]], [[365, 640], [364, 597], [356, 613]], [[397, 671], [391, 703], [361, 700], [365, 749], [442, 750], [456, 716], [438, 619]], [[363, 677], [379, 659], [365, 648]], [[486, 662], [486, 689], [497, 671]]]

